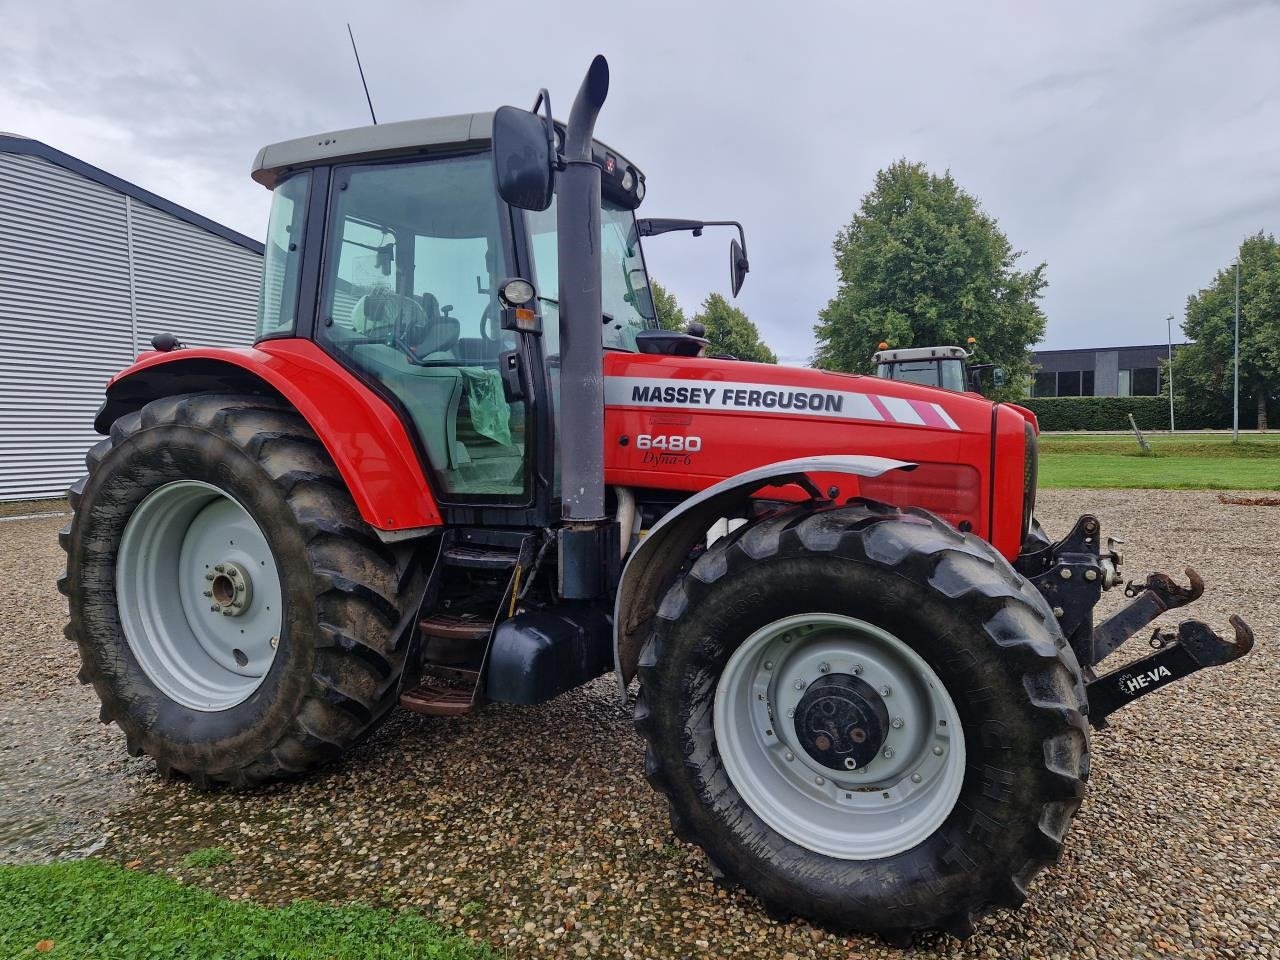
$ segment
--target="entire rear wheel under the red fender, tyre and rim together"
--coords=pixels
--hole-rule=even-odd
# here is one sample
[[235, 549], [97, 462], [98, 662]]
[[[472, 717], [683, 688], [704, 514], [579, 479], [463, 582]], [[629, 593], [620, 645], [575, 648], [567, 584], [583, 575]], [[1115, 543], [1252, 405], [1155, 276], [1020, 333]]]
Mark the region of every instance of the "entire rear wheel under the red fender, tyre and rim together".
[[[201, 787], [247, 786], [310, 771], [387, 717], [404, 666], [397, 634], [404, 572], [294, 410], [261, 397], [164, 397], [116, 420], [87, 465], [59, 536], [68, 554], [59, 580], [70, 607], [65, 632], [102, 722], [120, 726], [131, 754]], [[191, 532], [200, 502], [184, 506], [182, 497], [201, 492], [238, 517], [246, 536], [256, 529], [261, 538], [238, 561], [241, 580], [257, 579], [247, 594], [236, 593], [234, 579], [230, 589], [223, 579], [206, 582], [202, 563], [188, 570], [191, 543], [210, 536], [207, 521]], [[169, 564], [180, 572], [166, 572]], [[182, 603], [156, 595], [166, 588]], [[225, 617], [211, 607], [193, 612], [192, 591], [206, 588], [215, 595], [200, 603], [221, 602]], [[268, 607], [274, 598], [279, 611]], [[218, 641], [207, 631], [236, 635], [259, 616], [278, 630], [268, 631], [268, 646], [237, 649], [225, 669], [210, 659], [218, 650], [205, 653]]]

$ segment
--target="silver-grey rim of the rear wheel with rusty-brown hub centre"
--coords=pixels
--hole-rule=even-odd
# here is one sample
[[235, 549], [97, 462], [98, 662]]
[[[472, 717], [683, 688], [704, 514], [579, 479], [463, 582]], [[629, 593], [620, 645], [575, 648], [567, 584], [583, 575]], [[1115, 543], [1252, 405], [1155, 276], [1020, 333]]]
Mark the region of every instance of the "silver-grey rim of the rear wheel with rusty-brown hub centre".
[[178, 480], [137, 506], [115, 593], [129, 650], [175, 703], [237, 707], [275, 662], [284, 607], [275, 558], [248, 511], [212, 484]]

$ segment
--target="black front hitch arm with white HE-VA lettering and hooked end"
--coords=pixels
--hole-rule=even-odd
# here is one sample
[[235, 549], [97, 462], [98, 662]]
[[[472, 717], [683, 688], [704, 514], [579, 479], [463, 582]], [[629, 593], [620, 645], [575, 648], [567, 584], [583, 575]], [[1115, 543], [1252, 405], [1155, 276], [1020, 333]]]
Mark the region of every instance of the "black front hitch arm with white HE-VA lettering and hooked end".
[[1155, 653], [1085, 684], [1089, 723], [1094, 727], [1105, 726], [1108, 716], [1139, 696], [1166, 687], [1204, 667], [1217, 667], [1244, 657], [1253, 649], [1253, 631], [1234, 614], [1231, 627], [1235, 630], [1231, 640], [1219, 636], [1196, 620], [1180, 623], [1175, 639], [1165, 641], [1157, 634], [1152, 643], [1160, 643], [1161, 646]]

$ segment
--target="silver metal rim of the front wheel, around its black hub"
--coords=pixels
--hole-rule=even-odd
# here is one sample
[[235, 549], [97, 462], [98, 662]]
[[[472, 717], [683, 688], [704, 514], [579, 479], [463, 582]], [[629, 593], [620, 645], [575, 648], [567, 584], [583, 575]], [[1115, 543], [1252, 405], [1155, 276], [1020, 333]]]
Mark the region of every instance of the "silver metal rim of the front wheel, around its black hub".
[[[796, 727], [805, 690], [824, 677], [867, 684], [887, 708], [884, 740], [856, 769], [824, 765]], [[946, 686], [906, 643], [852, 617], [806, 613], [751, 634], [721, 673], [713, 722], [724, 771], [751, 810], [841, 860], [922, 844], [964, 783], [964, 731]]]

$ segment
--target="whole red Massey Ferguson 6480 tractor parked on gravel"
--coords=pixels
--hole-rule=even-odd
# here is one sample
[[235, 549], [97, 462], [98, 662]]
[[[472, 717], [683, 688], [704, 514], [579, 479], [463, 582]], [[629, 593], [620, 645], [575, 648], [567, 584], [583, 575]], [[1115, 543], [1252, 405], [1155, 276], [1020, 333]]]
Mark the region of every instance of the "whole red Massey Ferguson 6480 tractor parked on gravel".
[[[641, 238], [712, 223], [636, 219], [607, 90], [596, 58], [566, 123], [543, 91], [257, 155], [257, 342], [157, 335], [70, 490], [81, 680], [161, 776], [244, 787], [397, 705], [613, 671], [716, 877], [966, 936], [1057, 858], [1089, 727], [1251, 631], [1187, 621], [1097, 675], [1203, 585], [1124, 586], [1093, 516], [1046, 536], [1028, 411], [658, 329]], [[730, 265], [736, 294], [745, 241]]]

